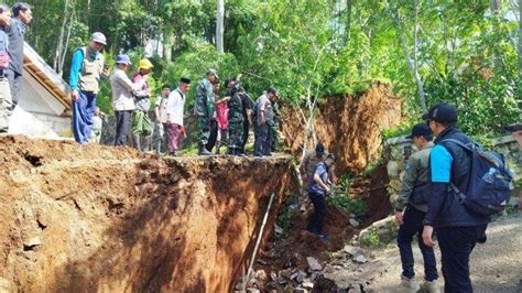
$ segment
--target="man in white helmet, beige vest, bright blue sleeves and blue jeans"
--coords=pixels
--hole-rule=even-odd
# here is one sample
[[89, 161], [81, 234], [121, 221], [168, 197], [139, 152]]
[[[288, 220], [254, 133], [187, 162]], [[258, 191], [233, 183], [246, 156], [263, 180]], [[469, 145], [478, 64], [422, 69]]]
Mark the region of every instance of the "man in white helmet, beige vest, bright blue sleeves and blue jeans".
[[100, 52], [106, 44], [105, 35], [96, 32], [90, 36], [88, 46], [79, 47], [73, 54], [69, 75], [73, 132], [76, 142], [80, 144], [89, 142], [99, 83], [108, 76], [105, 57]]

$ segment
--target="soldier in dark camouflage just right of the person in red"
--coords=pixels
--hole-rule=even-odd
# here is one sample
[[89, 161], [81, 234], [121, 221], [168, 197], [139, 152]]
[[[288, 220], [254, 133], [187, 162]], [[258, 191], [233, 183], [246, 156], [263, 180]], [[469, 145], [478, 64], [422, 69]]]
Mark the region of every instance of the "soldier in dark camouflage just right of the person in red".
[[237, 87], [230, 90], [230, 101], [228, 102], [228, 130], [229, 145], [228, 152], [232, 155], [244, 155], [241, 152], [243, 138], [243, 104]]

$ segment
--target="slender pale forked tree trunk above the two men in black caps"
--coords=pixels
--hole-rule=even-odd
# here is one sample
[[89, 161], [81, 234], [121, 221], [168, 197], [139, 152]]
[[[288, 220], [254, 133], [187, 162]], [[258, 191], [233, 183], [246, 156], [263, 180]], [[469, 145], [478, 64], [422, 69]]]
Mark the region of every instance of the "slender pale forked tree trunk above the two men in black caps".
[[411, 54], [410, 54], [410, 50], [407, 48], [406, 40], [404, 39], [404, 34], [402, 32], [401, 21], [399, 19], [399, 11], [394, 11], [393, 8], [390, 6], [390, 3], [388, 3], [388, 1], [385, 1], [385, 3], [387, 3], [387, 7], [388, 7], [388, 10], [392, 14], [392, 18], [395, 22], [396, 33], [399, 35], [399, 40], [401, 41], [401, 45], [402, 45], [402, 48], [403, 48], [405, 57], [406, 57], [407, 66], [410, 67], [410, 70], [413, 74], [413, 78], [415, 78], [415, 84], [417, 85], [417, 94], [418, 94], [418, 101], [421, 104], [421, 108], [422, 108], [423, 112], [427, 112], [426, 98], [425, 98], [425, 94], [424, 94], [424, 84], [421, 79], [421, 75], [418, 74], [418, 67], [417, 67], [417, 62], [416, 62], [416, 58], [417, 58], [416, 57], [416, 50], [417, 50], [417, 46], [418, 46], [418, 37], [417, 37], [417, 31], [418, 31], [418, 19], [417, 19], [418, 0], [415, 0], [415, 24], [414, 24], [415, 25], [415, 36], [414, 36], [414, 48], [413, 48], [414, 56], [413, 56], [413, 61], [412, 61], [412, 57], [411, 57]]

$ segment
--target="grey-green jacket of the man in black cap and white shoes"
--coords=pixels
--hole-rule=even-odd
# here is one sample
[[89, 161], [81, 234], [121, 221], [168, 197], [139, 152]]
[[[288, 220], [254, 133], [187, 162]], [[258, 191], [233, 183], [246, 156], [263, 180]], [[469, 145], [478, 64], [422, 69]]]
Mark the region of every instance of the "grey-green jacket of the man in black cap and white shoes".
[[[432, 141], [427, 142], [422, 150], [412, 154], [407, 160], [404, 177], [402, 178], [401, 191], [399, 192], [399, 198], [395, 205], [396, 211], [402, 211], [410, 203], [413, 187], [427, 183], [429, 152], [432, 151], [433, 145]], [[427, 211], [427, 204], [410, 204], [418, 210]]]

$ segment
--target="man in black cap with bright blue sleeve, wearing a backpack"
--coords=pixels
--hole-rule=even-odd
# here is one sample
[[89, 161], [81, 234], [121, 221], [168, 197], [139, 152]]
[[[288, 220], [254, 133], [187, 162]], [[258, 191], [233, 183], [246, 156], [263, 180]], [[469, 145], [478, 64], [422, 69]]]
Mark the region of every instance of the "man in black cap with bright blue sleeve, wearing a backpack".
[[469, 185], [471, 155], [448, 139], [464, 144], [475, 143], [457, 128], [457, 110], [439, 102], [423, 116], [437, 135], [429, 155], [431, 197], [424, 219], [423, 241], [434, 247], [434, 229], [442, 254], [442, 271], [446, 292], [472, 292], [469, 278], [469, 256], [475, 245], [485, 237], [490, 217], [468, 210], [450, 187], [466, 194]]

